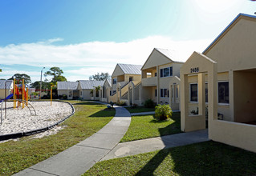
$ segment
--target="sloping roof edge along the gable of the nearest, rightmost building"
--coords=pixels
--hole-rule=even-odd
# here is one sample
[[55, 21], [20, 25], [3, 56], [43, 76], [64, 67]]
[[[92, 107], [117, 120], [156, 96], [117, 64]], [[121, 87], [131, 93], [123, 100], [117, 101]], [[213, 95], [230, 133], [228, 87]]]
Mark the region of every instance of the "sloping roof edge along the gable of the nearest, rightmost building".
[[232, 22], [230, 22], [230, 24], [228, 26], [226, 26], [225, 30], [223, 30], [221, 32], [221, 34], [219, 34], [217, 36], [217, 38], [215, 38], [213, 40], [213, 42], [211, 42], [211, 44], [209, 44], [209, 46], [202, 52], [202, 54], [207, 54], [207, 52], [217, 44], [217, 42], [219, 42], [221, 40], [221, 38], [229, 32], [229, 30], [240, 20], [240, 19], [256, 19], [256, 16], [254, 15], [250, 15], [250, 14], [238, 14], [238, 16], [236, 18], [234, 18], [234, 20]]

